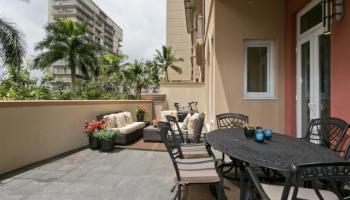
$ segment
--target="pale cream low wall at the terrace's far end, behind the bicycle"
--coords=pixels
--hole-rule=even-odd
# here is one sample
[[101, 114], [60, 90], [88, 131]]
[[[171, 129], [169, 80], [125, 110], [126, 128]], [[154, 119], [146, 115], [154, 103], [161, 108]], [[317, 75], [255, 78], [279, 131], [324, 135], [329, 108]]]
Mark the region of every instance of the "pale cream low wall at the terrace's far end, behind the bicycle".
[[205, 84], [203, 83], [161, 83], [160, 93], [166, 94], [164, 110], [174, 110], [174, 103], [188, 109], [188, 103], [198, 101], [198, 111], [206, 113]]

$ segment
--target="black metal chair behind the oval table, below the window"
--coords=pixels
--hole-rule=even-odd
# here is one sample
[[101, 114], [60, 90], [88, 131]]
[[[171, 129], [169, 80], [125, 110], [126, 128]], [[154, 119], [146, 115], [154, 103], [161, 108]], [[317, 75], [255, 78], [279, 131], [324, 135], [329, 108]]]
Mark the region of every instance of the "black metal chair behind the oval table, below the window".
[[[226, 129], [226, 128], [243, 128], [245, 124], [249, 123], [249, 117], [242, 114], [237, 113], [223, 113], [216, 115], [216, 122], [218, 129]], [[221, 172], [226, 174], [230, 172], [233, 168], [235, 169], [235, 176], [238, 179], [238, 161], [230, 158], [231, 162], [225, 163], [225, 154], [222, 153], [222, 166]], [[225, 167], [229, 167], [228, 170], [224, 171]], [[229, 177], [228, 177], [229, 178]]]

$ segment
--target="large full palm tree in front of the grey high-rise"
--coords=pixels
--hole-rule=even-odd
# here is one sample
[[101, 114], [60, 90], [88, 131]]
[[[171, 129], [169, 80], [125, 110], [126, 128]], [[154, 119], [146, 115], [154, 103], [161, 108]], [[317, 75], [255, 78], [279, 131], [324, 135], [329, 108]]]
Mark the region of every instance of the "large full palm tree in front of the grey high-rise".
[[98, 54], [101, 47], [90, 42], [85, 24], [72, 20], [57, 20], [46, 27], [47, 36], [35, 49], [41, 53], [34, 59], [34, 66], [50, 67], [64, 60], [71, 70], [72, 94], [76, 97], [76, 72], [79, 68], [88, 79], [98, 75]]

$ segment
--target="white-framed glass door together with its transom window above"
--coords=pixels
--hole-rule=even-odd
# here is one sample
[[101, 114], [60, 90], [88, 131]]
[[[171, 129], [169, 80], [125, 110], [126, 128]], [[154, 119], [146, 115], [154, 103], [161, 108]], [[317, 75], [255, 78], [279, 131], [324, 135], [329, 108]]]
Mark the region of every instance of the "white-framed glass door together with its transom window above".
[[297, 136], [311, 119], [330, 116], [330, 35], [324, 35], [323, 4], [312, 0], [297, 15]]

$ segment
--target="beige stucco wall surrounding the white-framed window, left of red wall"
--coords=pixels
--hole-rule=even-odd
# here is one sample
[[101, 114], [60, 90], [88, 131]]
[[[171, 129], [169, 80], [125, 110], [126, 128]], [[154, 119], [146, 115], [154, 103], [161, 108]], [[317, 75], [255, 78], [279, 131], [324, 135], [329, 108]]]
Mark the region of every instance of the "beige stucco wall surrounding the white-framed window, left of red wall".
[[[252, 2], [252, 3], [251, 3]], [[284, 1], [216, 0], [215, 112], [246, 114], [255, 125], [284, 130]], [[276, 99], [243, 97], [244, 40], [275, 41]]]

